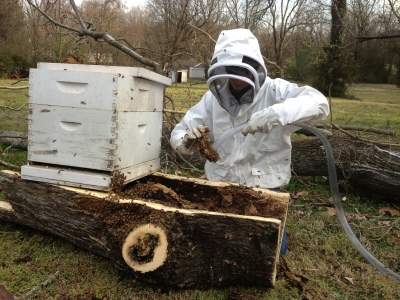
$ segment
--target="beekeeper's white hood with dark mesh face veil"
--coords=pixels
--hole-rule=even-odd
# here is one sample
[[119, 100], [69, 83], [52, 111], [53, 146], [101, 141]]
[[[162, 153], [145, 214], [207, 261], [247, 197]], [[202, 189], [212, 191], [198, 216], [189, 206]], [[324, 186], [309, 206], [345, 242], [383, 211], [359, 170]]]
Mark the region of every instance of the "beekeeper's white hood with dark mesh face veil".
[[[207, 84], [229, 114], [237, 116], [243, 105], [251, 105], [266, 76], [260, 46], [250, 30], [233, 29], [220, 33], [208, 70]], [[241, 92], [235, 92], [230, 86], [230, 78], [242, 80], [248, 86]]]

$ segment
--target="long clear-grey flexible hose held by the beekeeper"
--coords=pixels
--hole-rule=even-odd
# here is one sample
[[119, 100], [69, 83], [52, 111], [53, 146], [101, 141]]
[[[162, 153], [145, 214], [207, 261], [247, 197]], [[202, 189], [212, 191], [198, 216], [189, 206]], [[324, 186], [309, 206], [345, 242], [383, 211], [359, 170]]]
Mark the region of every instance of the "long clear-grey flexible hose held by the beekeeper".
[[[239, 125], [231, 128], [230, 130], [226, 131], [223, 135], [221, 135], [215, 141], [215, 143], [213, 144], [213, 148], [215, 150], [217, 150], [229, 137], [231, 137], [234, 134], [241, 131], [245, 125], [246, 125], [246, 123], [242, 123], [242, 124], [239, 124]], [[347, 219], [346, 219], [346, 216], [345, 216], [345, 213], [343, 210], [342, 199], [340, 197], [339, 185], [338, 185], [338, 181], [337, 181], [335, 159], [333, 156], [331, 144], [329, 143], [328, 139], [326, 138], [326, 136], [323, 133], [321, 133], [321, 131], [319, 131], [314, 126], [309, 126], [309, 125], [305, 125], [305, 124], [296, 124], [296, 126], [299, 126], [299, 127], [302, 127], [304, 129], [311, 131], [315, 136], [317, 136], [321, 140], [321, 142], [324, 145], [326, 159], [328, 162], [329, 184], [331, 187], [332, 202], [335, 205], [339, 221], [342, 224], [342, 227], [343, 227], [344, 231], [346, 232], [347, 236], [349, 237], [349, 239], [351, 240], [353, 245], [356, 247], [356, 249], [364, 256], [364, 258], [366, 260], [369, 261], [370, 264], [375, 266], [382, 273], [392, 275], [397, 280], [397, 282], [400, 283], [400, 274], [387, 268], [384, 264], [382, 264], [379, 260], [377, 260], [374, 256], [372, 256], [371, 253], [369, 253], [367, 251], [367, 249], [365, 249], [365, 247], [357, 239], [354, 232], [351, 230], [350, 225], [347, 222]]]

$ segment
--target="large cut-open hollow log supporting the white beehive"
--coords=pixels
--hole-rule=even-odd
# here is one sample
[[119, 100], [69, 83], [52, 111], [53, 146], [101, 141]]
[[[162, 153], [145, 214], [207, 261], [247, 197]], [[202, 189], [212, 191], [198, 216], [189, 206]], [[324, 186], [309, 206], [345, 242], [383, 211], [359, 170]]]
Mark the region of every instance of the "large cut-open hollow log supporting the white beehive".
[[1, 221], [57, 235], [157, 288], [275, 283], [288, 194], [161, 173], [120, 194], [11, 171], [0, 184]]

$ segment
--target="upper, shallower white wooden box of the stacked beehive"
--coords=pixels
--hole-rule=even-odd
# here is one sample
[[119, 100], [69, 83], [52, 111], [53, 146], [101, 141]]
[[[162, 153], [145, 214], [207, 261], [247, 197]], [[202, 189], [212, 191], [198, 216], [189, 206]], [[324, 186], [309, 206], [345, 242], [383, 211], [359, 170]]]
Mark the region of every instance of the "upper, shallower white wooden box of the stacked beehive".
[[31, 69], [29, 101], [33, 104], [109, 111], [162, 111], [163, 85], [121, 75]]

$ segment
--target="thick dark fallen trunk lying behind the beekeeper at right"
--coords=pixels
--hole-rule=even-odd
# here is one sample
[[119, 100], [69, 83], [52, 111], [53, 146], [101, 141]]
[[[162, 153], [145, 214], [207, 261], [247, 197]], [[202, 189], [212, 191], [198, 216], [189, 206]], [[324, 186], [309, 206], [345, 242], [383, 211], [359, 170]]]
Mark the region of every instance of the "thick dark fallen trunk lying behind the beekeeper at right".
[[[400, 202], [399, 148], [378, 146], [347, 136], [330, 136], [338, 177], [356, 191]], [[293, 172], [328, 176], [325, 151], [317, 138], [293, 141]]]

